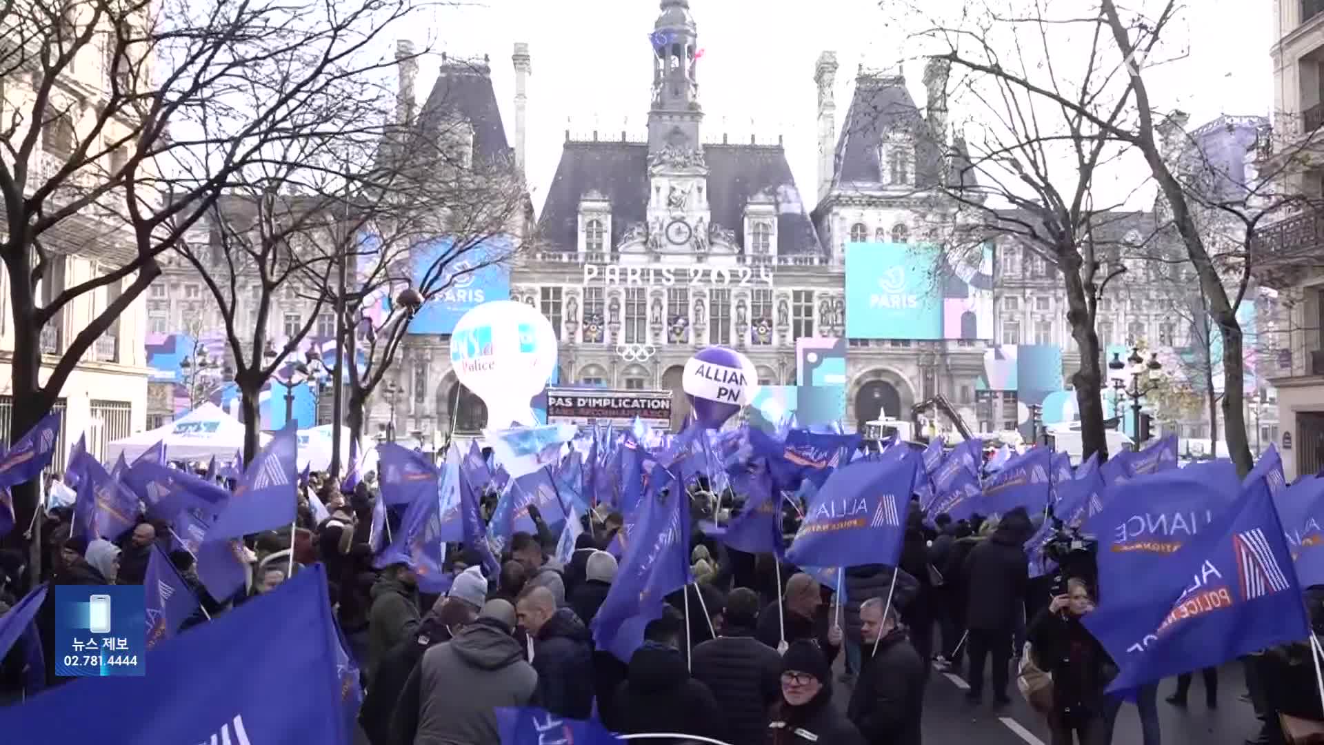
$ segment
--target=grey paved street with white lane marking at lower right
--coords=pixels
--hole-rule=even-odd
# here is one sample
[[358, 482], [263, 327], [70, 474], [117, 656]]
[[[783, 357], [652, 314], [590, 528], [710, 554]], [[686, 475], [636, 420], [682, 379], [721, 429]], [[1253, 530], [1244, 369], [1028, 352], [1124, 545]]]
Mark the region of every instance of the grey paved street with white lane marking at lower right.
[[[835, 685], [835, 700], [845, 709], [850, 697], [850, 687], [839, 683]], [[1192, 704], [1186, 709], [1180, 709], [1162, 700], [1173, 692], [1174, 687], [1176, 681], [1164, 681], [1158, 691], [1158, 720], [1164, 742], [1241, 745], [1259, 724], [1251, 705], [1241, 700], [1246, 685], [1239, 664], [1227, 665], [1219, 671], [1219, 708], [1217, 711], [1210, 712], [1205, 708], [1204, 683], [1198, 675], [1190, 692]], [[977, 741], [981, 745], [1045, 745], [1050, 741], [1043, 718], [1026, 705], [1018, 692], [1012, 692], [1010, 707], [994, 711], [986, 701], [980, 707], [968, 704], [965, 689], [965, 681], [955, 675], [935, 671], [931, 676], [924, 699], [924, 742], [927, 745], [959, 745], [970, 741]], [[986, 688], [985, 696], [989, 696]], [[1117, 716], [1112, 742], [1115, 745], [1139, 745], [1140, 741], [1140, 720], [1136, 708], [1124, 704]]]

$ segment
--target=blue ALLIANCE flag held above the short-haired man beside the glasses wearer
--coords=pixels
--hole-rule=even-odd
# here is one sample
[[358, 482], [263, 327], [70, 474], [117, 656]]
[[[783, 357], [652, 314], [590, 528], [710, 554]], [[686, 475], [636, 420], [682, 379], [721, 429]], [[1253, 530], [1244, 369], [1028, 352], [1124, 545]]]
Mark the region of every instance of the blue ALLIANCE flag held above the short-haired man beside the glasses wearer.
[[805, 510], [786, 561], [806, 566], [895, 566], [920, 457], [861, 460], [828, 477]]

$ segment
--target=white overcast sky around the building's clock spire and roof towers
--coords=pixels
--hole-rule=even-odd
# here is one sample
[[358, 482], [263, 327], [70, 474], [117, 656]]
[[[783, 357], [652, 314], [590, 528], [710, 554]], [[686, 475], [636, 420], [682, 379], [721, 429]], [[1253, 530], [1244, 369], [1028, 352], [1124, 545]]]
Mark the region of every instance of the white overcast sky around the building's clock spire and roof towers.
[[[960, 0], [931, 0], [933, 5]], [[1197, 0], [1198, 12], [1169, 38], [1190, 37], [1190, 56], [1149, 81], [1156, 107], [1180, 106], [1192, 126], [1219, 114], [1270, 114], [1272, 74], [1268, 50], [1272, 8], [1268, 0]], [[1054, 7], [1061, 7], [1058, 3]], [[1092, 8], [1082, 0], [1082, 8]], [[887, 23], [874, 0], [773, 3], [690, 0], [699, 28], [699, 97], [706, 114], [703, 137], [776, 142], [782, 135], [796, 184], [814, 201], [814, 61], [833, 50], [837, 76], [837, 126], [845, 118], [855, 70], [898, 62], [907, 30]], [[642, 139], [651, 85], [647, 38], [657, 0], [487, 0], [483, 5], [434, 13], [429, 32], [438, 50], [463, 57], [491, 56], [493, 82], [502, 119], [514, 144], [514, 72], [511, 48], [530, 45], [534, 74], [528, 87], [528, 179], [540, 209], [572, 134], [618, 139], [626, 129]], [[420, 32], [416, 41], [426, 42]], [[426, 97], [440, 60], [420, 64], [418, 97]], [[923, 105], [922, 65], [907, 65], [907, 84]], [[1148, 76], [1147, 76], [1148, 77]], [[1144, 207], [1144, 204], [1135, 204]]]

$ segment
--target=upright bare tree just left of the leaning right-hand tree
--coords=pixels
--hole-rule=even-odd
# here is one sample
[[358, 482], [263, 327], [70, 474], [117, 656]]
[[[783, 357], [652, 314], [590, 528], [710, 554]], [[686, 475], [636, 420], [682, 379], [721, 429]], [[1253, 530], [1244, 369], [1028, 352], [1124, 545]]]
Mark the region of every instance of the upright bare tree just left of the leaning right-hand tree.
[[[1102, 390], [1103, 361], [1095, 318], [1108, 284], [1125, 269], [1115, 233], [1121, 201], [1096, 204], [1095, 186], [1124, 148], [1099, 122], [1115, 126], [1127, 111], [1129, 87], [1103, 60], [1103, 29], [1072, 19], [1023, 20], [988, 11], [977, 20], [932, 19], [922, 5], [907, 8], [925, 19], [915, 34], [932, 60], [951, 65], [953, 110], [965, 111], [948, 160], [959, 171], [945, 195], [961, 209], [953, 248], [970, 251], [985, 241], [1016, 243], [1053, 266], [1066, 290], [1067, 322], [1080, 354], [1071, 375], [1080, 411], [1084, 456], [1107, 457]], [[1043, 64], [1049, 36], [1071, 28], [1084, 49], [1080, 65]], [[1005, 45], [1005, 48], [1004, 48]], [[1001, 70], [1014, 70], [1002, 73]], [[1016, 76], [1019, 76], [1016, 78]], [[1029, 78], [1072, 101], [1072, 107], [1042, 106], [1013, 80]], [[1090, 117], [1074, 110], [1087, 110]]]

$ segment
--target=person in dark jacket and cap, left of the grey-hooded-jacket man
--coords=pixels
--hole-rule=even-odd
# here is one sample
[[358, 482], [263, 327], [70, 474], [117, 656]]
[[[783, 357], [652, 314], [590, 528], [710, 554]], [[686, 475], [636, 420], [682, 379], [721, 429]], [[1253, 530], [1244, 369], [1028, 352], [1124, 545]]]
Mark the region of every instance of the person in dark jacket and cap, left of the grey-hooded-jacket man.
[[372, 745], [391, 744], [391, 713], [400, 700], [400, 692], [424, 652], [437, 644], [450, 642], [461, 628], [478, 620], [481, 607], [458, 597], [442, 598], [424, 616], [418, 631], [391, 648], [377, 664], [368, 693], [359, 707], [359, 725]]

